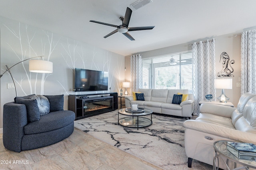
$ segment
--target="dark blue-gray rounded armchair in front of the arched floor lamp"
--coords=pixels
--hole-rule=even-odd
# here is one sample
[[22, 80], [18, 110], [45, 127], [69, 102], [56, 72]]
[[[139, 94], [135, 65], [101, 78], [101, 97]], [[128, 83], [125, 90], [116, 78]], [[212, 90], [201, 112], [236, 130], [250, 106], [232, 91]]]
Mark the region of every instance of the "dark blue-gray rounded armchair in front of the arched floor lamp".
[[63, 110], [64, 96], [46, 97], [52, 107], [50, 112], [40, 116], [38, 121], [29, 121], [28, 107], [25, 104], [4, 104], [3, 143], [6, 149], [20, 152], [46, 147], [73, 133], [75, 114], [73, 111]]

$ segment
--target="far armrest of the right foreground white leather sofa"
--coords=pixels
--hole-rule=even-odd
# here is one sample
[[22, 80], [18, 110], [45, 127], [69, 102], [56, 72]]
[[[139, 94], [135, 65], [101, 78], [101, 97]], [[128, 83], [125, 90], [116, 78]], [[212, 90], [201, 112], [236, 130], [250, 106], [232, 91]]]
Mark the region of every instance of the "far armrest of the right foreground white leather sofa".
[[233, 111], [236, 110], [236, 107], [222, 106], [218, 104], [201, 104], [200, 113], [210, 113], [213, 115], [218, 115], [222, 117], [231, 118]]

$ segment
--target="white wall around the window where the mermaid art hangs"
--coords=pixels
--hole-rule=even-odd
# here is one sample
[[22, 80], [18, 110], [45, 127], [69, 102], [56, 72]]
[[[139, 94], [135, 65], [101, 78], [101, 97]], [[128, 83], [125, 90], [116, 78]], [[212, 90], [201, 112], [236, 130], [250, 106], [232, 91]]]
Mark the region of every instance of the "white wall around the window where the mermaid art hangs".
[[[152, 51], [146, 51], [140, 53], [142, 55], [142, 58], [148, 58], [148, 57], [154, 57], [154, 56], [160, 56], [160, 55], [166, 55], [166, 54], [172, 54], [172, 53], [179, 53], [183, 51], [189, 51], [191, 50], [191, 44], [194, 42], [199, 41], [205, 41], [206, 39], [212, 39], [215, 38], [215, 57], [216, 57], [216, 78], [217, 73], [221, 71], [222, 69], [222, 61], [220, 61], [220, 54], [222, 52], [226, 52], [230, 60], [234, 60], [235, 63], [232, 64], [232, 67], [234, 68], [234, 77], [230, 77], [233, 79], [233, 87], [232, 90], [225, 90], [226, 96], [230, 97], [229, 102], [232, 102], [234, 106], [236, 107], [238, 104], [238, 100], [240, 98], [240, 87], [236, 86], [236, 83], [238, 82], [238, 78], [240, 77], [240, 41], [241, 41], [241, 35], [237, 35], [238, 33], [230, 33], [226, 35], [220, 35], [216, 37], [210, 37], [205, 39], [198, 39], [192, 42], [180, 44], [180, 45], [174, 45], [171, 47], [165, 47], [162, 49], [156, 49]], [[126, 56], [125, 59], [125, 65], [126, 65], [126, 71], [130, 71], [130, 56]], [[230, 68], [230, 66], [229, 66]], [[130, 74], [126, 73], [126, 80], [130, 81]], [[216, 90], [216, 96], [220, 96], [221, 90]]]

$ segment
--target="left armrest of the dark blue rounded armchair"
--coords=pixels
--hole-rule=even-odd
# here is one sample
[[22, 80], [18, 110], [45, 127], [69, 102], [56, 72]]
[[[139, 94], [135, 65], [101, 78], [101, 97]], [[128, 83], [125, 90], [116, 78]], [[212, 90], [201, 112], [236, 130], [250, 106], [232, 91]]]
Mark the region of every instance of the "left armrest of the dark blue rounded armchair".
[[3, 107], [3, 143], [8, 150], [21, 151], [24, 126], [28, 124], [27, 110], [24, 104], [6, 103]]

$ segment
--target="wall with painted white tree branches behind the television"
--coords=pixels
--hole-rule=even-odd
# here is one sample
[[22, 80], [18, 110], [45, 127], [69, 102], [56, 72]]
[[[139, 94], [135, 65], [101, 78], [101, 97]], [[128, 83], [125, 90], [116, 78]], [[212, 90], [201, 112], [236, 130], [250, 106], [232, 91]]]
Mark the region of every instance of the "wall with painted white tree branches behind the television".
[[[74, 93], [74, 68], [108, 71], [111, 92], [120, 92], [120, 82], [125, 81], [124, 56], [57, 33], [0, 17], [0, 42], [1, 74], [6, 64], [10, 67], [30, 57], [44, 55], [44, 60], [53, 63], [51, 74], [29, 72], [28, 61], [14, 66], [11, 72], [18, 96], [64, 94], [64, 109], [68, 109], [68, 94]], [[14, 89], [7, 89], [7, 83], [12, 79], [5, 73], [0, 79], [0, 129], [3, 105], [16, 96]]]

